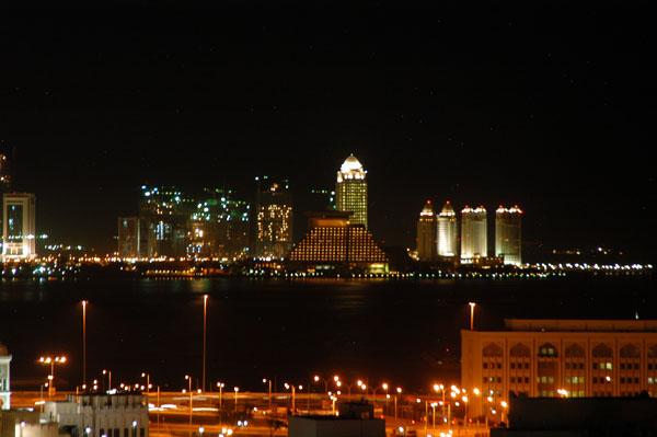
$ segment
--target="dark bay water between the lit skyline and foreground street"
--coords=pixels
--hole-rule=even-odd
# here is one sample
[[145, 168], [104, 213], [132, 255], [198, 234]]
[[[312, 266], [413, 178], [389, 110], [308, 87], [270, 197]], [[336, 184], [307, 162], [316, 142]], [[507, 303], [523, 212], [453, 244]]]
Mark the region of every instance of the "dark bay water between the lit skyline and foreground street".
[[[370, 386], [425, 390], [459, 379], [460, 330], [502, 326], [505, 317], [657, 319], [652, 279], [256, 280], [107, 279], [0, 283], [0, 342], [12, 389], [38, 389], [42, 355], [66, 354], [60, 389], [82, 381], [82, 306], [88, 380], [112, 370], [113, 384], [187, 387], [203, 375], [203, 295], [207, 383], [263, 390], [263, 378], [307, 384], [335, 373]], [[320, 386], [316, 387], [320, 390]]]

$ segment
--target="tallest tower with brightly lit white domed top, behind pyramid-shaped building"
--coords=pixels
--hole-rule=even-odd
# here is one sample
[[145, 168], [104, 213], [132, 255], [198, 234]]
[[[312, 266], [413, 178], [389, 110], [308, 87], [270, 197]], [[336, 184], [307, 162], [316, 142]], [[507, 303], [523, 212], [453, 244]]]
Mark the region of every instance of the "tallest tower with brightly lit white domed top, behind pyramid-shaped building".
[[350, 154], [337, 172], [335, 184], [336, 209], [351, 212], [351, 225], [362, 225], [367, 229], [367, 171], [362, 164]]

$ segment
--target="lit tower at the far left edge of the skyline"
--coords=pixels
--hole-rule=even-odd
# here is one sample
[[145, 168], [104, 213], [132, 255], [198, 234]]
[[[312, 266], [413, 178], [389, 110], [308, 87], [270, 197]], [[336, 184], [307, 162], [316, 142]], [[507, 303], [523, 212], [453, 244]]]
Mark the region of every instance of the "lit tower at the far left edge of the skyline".
[[36, 256], [34, 194], [5, 193], [2, 196], [2, 257]]

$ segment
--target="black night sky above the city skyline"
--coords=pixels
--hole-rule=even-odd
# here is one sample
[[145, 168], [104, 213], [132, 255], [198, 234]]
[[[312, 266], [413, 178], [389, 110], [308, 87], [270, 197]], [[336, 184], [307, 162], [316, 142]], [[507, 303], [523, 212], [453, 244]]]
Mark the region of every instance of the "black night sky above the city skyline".
[[37, 231], [101, 252], [142, 183], [284, 175], [300, 214], [353, 152], [389, 244], [431, 198], [653, 256], [654, 34], [627, 7], [2, 9], [0, 146]]

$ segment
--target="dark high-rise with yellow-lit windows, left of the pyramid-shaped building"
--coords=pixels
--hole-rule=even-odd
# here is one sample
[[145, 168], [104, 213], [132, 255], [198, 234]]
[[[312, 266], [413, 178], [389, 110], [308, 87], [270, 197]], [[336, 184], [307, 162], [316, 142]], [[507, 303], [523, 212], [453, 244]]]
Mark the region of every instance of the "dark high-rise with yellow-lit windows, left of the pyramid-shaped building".
[[254, 255], [283, 258], [292, 249], [292, 195], [287, 180], [256, 177]]

